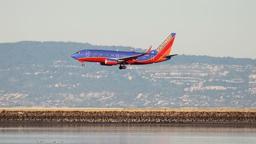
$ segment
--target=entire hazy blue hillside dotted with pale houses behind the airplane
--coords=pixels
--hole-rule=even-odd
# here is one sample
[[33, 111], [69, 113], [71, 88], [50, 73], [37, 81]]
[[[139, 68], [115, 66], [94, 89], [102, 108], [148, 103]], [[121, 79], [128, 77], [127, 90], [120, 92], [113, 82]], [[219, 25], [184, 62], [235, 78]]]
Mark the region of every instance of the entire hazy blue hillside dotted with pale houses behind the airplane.
[[[256, 60], [178, 55], [154, 65], [81, 63], [89, 43], [0, 43], [0, 107], [255, 107]], [[143, 52], [142, 49], [135, 49]]]

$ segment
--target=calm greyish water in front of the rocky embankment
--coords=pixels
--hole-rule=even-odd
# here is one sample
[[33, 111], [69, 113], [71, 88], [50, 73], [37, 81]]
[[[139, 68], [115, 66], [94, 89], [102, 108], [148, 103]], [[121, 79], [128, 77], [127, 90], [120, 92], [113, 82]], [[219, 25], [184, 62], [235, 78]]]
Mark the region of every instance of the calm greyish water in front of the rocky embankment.
[[0, 143], [256, 143], [256, 125], [0, 124]]

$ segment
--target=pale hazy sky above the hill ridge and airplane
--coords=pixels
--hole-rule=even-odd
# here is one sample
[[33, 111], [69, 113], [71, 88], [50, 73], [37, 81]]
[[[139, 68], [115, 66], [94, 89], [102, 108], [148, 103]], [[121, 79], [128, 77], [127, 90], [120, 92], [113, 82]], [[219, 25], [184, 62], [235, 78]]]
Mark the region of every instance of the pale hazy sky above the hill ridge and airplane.
[[75, 41], [256, 58], [256, 1], [2, 1], [0, 43]]

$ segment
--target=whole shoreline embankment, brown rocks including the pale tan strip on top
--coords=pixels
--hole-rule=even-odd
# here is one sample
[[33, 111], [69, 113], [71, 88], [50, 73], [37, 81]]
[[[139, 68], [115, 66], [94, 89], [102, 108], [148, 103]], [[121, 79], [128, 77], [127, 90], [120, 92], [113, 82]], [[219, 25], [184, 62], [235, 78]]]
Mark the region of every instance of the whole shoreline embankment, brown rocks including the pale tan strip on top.
[[256, 108], [0, 108], [0, 123], [256, 124]]

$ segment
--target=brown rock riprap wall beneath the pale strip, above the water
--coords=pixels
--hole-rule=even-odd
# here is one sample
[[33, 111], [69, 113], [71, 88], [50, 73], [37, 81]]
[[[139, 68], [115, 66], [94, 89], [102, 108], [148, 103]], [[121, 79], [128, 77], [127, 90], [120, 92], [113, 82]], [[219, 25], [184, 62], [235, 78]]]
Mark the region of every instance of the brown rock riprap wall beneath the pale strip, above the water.
[[0, 111], [0, 123], [243, 123], [256, 111]]

